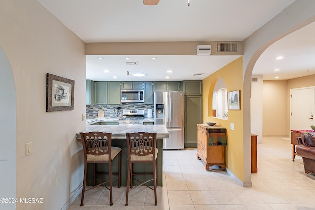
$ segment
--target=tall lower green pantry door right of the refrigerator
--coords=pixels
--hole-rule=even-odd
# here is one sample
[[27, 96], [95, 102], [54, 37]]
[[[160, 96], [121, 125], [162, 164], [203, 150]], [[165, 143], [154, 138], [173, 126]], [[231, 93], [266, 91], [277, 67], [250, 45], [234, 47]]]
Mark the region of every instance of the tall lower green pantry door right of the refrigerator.
[[202, 123], [202, 95], [185, 95], [185, 148], [197, 147], [197, 124]]

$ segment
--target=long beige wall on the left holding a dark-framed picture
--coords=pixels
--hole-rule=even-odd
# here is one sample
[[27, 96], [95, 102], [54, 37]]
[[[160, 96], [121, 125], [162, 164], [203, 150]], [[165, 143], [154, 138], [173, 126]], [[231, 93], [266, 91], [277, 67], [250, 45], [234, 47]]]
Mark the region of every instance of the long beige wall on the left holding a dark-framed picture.
[[[65, 209], [83, 180], [75, 134], [85, 130], [84, 43], [36, 0], [1, 0], [0, 46], [16, 89], [16, 197], [43, 198], [41, 204], [17, 203], [16, 209]], [[47, 73], [75, 81], [74, 110], [46, 112]], [[29, 142], [33, 153], [26, 156]]]

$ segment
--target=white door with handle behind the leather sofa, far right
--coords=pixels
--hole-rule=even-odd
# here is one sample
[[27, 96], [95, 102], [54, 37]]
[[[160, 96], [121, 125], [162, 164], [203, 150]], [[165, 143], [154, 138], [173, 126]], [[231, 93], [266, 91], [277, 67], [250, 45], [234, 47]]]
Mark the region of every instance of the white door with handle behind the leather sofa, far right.
[[314, 90], [291, 89], [291, 130], [311, 130], [314, 125]]

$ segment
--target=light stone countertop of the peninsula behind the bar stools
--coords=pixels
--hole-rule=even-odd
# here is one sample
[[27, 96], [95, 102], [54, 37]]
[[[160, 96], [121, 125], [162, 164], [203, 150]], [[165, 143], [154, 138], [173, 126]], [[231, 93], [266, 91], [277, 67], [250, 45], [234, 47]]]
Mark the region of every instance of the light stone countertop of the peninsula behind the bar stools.
[[[157, 138], [169, 138], [169, 133], [165, 125], [90, 125], [84, 132], [99, 131], [111, 132], [113, 139], [126, 139], [127, 132], [156, 132]], [[76, 134], [76, 139], [81, 141], [80, 133]]]

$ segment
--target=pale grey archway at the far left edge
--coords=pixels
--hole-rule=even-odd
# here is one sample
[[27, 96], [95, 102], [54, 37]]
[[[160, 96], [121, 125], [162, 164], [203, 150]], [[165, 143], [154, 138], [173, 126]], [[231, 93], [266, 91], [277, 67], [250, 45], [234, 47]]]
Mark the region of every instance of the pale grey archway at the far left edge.
[[[13, 72], [0, 46], [0, 177], [1, 198], [16, 196], [16, 91]], [[2, 203], [2, 202], [1, 202]], [[3, 207], [2, 207], [3, 206]], [[6, 210], [15, 210], [15, 203], [2, 203]]]

